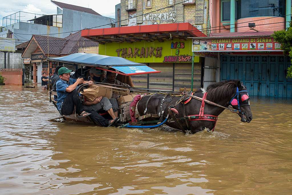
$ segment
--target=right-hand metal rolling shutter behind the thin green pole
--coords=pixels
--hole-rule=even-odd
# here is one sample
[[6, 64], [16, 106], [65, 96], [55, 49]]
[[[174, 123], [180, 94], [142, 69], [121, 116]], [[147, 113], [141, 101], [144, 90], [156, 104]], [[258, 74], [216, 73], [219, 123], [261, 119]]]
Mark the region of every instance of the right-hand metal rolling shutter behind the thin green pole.
[[[174, 65], [174, 91], [180, 88], [191, 88], [192, 63], [175, 63]], [[201, 63], [194, 63], [194, 89], [201, 87]]]

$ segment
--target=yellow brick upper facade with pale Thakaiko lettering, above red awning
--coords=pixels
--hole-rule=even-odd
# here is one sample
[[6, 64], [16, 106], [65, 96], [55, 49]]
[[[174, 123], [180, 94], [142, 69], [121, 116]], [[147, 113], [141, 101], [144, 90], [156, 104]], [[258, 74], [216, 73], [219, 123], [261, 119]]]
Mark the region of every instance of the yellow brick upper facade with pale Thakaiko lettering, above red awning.
[[122, 27], [190, 23], [201, 30], [210, 25], [206, 0], [121, 0], [118, 5], [116, 15], [120, 15]]

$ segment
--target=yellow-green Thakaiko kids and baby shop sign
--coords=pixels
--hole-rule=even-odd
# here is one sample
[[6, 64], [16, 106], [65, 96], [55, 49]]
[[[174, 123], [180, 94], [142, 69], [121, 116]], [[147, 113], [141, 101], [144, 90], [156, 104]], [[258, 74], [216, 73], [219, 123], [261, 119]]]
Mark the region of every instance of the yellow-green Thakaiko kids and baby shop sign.
[[[99, 45], [99, 54], [118, 56], [138, 63], [192, 62], [192, 40], [153, 41], [129, 43], [105, 43]], [[199, 62], [195, 56], [194, 62]]]

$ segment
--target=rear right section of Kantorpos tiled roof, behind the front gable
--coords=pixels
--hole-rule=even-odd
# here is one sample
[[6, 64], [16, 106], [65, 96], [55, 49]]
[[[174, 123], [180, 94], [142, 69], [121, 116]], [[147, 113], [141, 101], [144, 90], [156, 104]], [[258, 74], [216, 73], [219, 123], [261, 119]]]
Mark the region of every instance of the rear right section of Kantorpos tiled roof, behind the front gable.
[[97, 47], [98, 42], [91, 41], [81, 37], [81, 31], [70, 34], [68, 37], [65, 37], [67, 42], [62, 49], [61, 55], [63, 54], [75, 54], [78, 53], [78, 47]]

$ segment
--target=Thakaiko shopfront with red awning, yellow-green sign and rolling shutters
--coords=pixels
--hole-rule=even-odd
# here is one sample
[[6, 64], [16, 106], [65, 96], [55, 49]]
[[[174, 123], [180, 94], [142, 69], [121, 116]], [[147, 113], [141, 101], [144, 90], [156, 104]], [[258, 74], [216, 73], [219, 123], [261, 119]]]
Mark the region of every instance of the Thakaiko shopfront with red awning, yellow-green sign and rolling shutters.
[[[206, 37], [190, 23], [86, 29], [81, 36], [97, 41], [99, 54], [145, 63], [161, 71], [133, 76], [135, 87], [171, 91], [191, 88], [192, 39], [186, 37]], [[194, 88], [204, 84], [205, 61], [205, 57], [194, 56]]]

